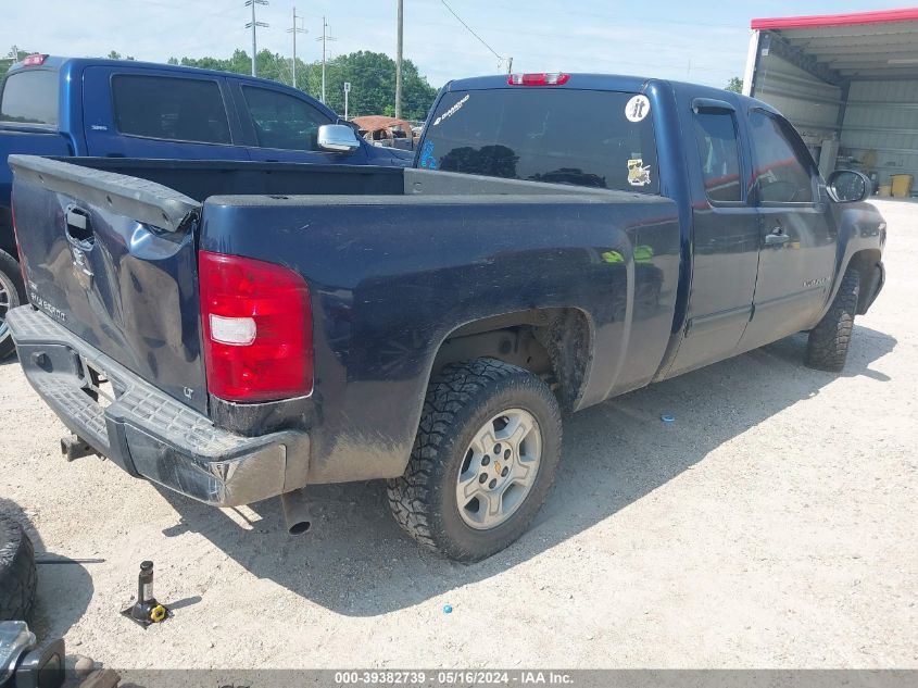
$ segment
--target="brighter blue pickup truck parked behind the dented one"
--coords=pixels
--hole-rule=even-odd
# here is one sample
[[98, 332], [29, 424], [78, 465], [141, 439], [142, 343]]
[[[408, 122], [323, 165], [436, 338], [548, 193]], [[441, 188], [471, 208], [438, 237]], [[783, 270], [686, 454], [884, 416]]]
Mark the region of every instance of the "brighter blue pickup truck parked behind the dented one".
[[30, 55], [0, 91], [0, 358], [13, 351], [5, 313], [25, 302], [7, 157], [78, 155], [406, 166], [414, 154], [359, 141], [326, 148], [338, 115], [303, 91], [196, 67]]

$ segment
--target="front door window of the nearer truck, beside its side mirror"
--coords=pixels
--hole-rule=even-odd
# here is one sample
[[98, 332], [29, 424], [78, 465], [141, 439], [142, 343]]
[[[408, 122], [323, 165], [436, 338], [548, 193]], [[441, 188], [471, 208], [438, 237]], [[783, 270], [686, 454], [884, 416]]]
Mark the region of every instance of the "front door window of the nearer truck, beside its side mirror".
[[790, 125], [763, 110], [750, 112], [753, 183], [764, 203], [813, 202], [813, 161]]

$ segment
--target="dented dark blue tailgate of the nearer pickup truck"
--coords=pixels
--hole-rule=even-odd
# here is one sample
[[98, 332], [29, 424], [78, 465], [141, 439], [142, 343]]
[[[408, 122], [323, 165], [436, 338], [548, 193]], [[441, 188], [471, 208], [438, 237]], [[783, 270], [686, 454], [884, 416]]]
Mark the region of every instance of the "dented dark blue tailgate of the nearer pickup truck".
[[11, 155], [10, 166], [32, 303], [206, 413], [200, 203], [159, 184], [45, 158]]

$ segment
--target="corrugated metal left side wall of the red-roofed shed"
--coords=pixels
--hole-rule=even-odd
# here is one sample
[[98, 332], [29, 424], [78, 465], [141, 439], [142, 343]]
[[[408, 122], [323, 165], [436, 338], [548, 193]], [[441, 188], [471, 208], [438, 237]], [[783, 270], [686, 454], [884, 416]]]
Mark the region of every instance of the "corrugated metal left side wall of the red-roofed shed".
[[759, 58], [753, 97], [777, 108], [810, 148], [835, 136], [841, 89], [775, 54]]

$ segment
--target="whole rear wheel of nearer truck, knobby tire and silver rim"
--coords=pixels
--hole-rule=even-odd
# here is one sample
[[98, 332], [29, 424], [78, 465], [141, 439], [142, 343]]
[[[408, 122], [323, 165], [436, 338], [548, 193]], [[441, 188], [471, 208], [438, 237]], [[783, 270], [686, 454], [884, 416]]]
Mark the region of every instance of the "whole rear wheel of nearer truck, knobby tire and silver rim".
[[445, 366], [428, 387], [405, 474], [388, 483], [395, 520], [456, 561], [501, 551], [542, 505], [561, 433], [557, 400], [529, 371], [493, 359]]

